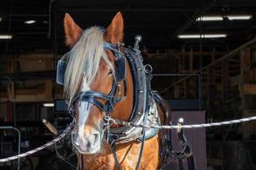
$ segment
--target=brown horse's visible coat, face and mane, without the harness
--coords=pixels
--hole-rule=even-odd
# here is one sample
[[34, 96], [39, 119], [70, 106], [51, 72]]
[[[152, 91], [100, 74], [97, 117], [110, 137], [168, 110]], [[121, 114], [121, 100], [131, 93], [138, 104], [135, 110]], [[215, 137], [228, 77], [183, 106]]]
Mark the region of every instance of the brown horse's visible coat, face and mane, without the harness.
[[[111, 145], [104, 137], [104, 117], [107, 113], [87, 100], [74, 100], [74, 98], [79, 92], [95, 91], [108, 95], [112, 90], [116, 76], [114, 69], [116, 56], [113, 50], [104, 48], [103, 44], [108, 42], [118, 45], [122, 42], [124, 34], [122, 14], [116, 14], [105, 31], [97, 26], [83, 31], [71, 16], [66, 14], [64, 28], [67, 45], [72, 48], [69, 53], [64, 89], [69, 105], [74, 105], [76, 112], [72, 136], [73, 146], [78, 150], [78, 168], [117, 169]], [[125, 62], [125, 82], [119, 84], [119, 94], [115, 93], [114, 95], [124, 96], [126, 94], [126, 96], [125, 99], [114, 105], [111, 117], [127, 122], [133, 109], [134, 82], [131, 66], [127, 64], [127, 61]], [[107, 103], [107, 100], [102, 98], [97, 99], [97, 101], [102, 104]], [[166, 108], [169, 110], [167, 105]], [[161, 122], [166, 122], [160, 105], [157, 105], [157, 111]], [[111, 128], [113, 127], [119, 127], [119, 125], [113, 124]], [[160, 167], [160, 142], [160, 133], [144, 142], [139, 169], [157, 169]], [[141, 145], [142, 143], [135, 139], [127, 143], [116, 144], [116, 156], [120, 169], [136, 168]]]

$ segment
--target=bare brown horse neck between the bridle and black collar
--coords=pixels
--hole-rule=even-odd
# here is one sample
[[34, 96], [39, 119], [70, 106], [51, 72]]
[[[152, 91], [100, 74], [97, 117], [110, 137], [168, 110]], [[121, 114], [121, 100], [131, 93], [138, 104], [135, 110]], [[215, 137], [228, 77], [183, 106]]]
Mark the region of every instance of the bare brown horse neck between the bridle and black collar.
[[[127, 95], [126, 99], [122, 102], [119, 102], [117, 105], [115, 105], [115, 109], [112, 113], [112, 116], [116, 119], [122, 120], [122, 121], [128, 121], [132, 108], [133, 108], [133, 81], [132, 81], [132, 75], [131, 75], [131, 67], [126, 61], [126, 83], [127, 83]], [[125, 86], [124, 83], [121, 84], [121, 91], [124, 95], [125, 93]]]

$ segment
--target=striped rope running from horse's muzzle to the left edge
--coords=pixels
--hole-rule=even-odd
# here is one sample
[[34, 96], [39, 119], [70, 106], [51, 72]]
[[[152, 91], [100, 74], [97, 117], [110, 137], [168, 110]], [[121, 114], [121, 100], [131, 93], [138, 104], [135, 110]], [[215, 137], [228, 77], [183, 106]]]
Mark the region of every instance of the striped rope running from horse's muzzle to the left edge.
[[20, 155], [17, 155], [17, 156], [10, 156], [10, 157], [7, 157], [7, 158], [3, 158], [3, 159], [0, 159], [0, 163], [3, 163], [5, 161], [13, 161], [15, 159], [19, 159], [21, 157], [25, 157], [25, 156], [29, 156], [29, 155], [32, 155], [40, 150], [44, 150], [45, 148], [49, 147], [50, 145], [52, 144], [55, 144], [56, 142], [60, 141], [61, 139], [63, 139], [67, 133], [72, 129], [73, 127], [73, 122], [70, 123], [70, 125], [63, 131], [63, 133], [61, 133], [57, 138], [51, 140], [49, 143], [47, 144], [44, 144], [34, 150], [29, 150], [23, 154], [20, 154]]

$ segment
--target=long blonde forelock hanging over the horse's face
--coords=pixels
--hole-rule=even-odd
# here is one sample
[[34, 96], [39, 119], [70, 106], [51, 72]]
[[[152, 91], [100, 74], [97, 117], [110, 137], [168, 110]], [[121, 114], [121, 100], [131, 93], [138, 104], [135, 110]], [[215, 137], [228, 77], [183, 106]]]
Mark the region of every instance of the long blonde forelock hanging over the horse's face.
[[83, 32], [79, 42], [71, 49], [64, 79], [64, 93], [69, 105], [80, 91], [81, 83], [90, 87], [96, 77], [101, 59], [112, 67], [103, 44], [104, 32], [101, 28], [93, 26]]

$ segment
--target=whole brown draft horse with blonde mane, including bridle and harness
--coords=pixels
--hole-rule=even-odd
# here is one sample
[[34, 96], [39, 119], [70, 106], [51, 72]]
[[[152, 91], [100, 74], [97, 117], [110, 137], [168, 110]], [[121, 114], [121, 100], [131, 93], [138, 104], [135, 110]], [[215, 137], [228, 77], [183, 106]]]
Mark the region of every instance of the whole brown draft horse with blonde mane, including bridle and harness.
[[[122, 45], [122, 14], [117, 13], [107, 29], [91, 26], [83, 30], [66, 13], [64, 31], [71, 50], [61, 60], [65, 73], [62, 72], [59, 82], [64, 85], [67, 104], [75, 113], [72, 143], [78, 152], [78, 169], [160, 168], [161, 150], [166, 149], [163, 131], [148, 134], [149, 129], [129, 127], [125, 133], [112, 135], [126, 128], [114, 120], [129, 122], [131, 117], [137, 117], [137, 123], [149, 119], [154, 124], [171, 122], [171, 109], [166, 100], [151, 90], [150, 85], [144, 87], [145, 83], [150, 84], [150, 68], [138, 66], [143, 61], [138, 44], [134, 50]], [[125, 58], [125, 54], [130, 54], [130, 58]], [[132, 62], [137, 62], [137, 66], [132, 66]], [[144, 82], [140, 84], [142, 79]], [[141, 112], [134, 112], [138, 104], [143, 105], [137, 106]]]

